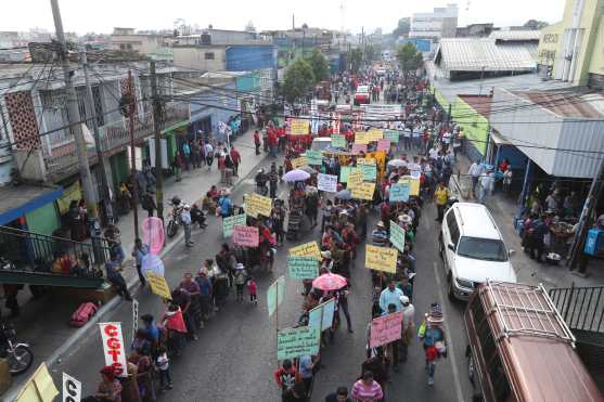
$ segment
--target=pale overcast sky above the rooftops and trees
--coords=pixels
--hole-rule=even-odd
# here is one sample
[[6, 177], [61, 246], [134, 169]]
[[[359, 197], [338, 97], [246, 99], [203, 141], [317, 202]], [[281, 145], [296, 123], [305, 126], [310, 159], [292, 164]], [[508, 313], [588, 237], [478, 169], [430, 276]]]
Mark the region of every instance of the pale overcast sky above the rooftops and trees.
[[[113, 27], [137, 29], [172, 28], [177, 18], [188, 24], [215, 28], [243, 29], [252, 21], [257, 29], [286, 29], [306, 23], [312, 27], [352, 33], [382, 27], [389, 33], [399, 17], [429, 12], [454, 1], [433, 0], [60, 0], [66, 31], [111, 33]], [[344, 21], [340, 4], [344, 3]], [[494, 23], [496, 26], [522, 25], [536, 18], [554, 23], [562, 18], [564, 0], [463, 0], [459, 25]], [[31, 27], [54, 31], [50, 0], [1, 0], [0, 30], [28, 30]]]

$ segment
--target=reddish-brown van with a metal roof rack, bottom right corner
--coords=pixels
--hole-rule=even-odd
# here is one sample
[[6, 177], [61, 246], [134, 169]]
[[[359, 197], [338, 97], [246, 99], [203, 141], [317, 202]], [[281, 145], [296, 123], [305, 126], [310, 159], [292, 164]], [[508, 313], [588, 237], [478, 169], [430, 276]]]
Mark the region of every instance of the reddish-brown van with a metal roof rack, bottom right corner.
[[488, 281], [464, 313], [473, 401], [603, 401], [543, 286]]

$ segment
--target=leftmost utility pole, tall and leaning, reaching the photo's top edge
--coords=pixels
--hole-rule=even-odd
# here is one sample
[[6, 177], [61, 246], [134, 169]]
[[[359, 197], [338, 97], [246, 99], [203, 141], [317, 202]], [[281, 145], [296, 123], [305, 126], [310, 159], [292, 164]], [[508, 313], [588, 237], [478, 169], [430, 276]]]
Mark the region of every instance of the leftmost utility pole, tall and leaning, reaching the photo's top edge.
[[[78, 109], [78, 101], [76, 98], [76, 90], [72, 81], [73, 70], [67, 61], [67, 44], [65, 42], [65, 33], [63, 31], [63, 21], [61, 20], [61, 10], [59, 9], [59, 0], [50, 0], [52, 8], [52, 16], [54, 18], [54, 29], [56, 31], [56, 40], [61, 46], [59, 56], [63, 68], [63, 76], [65, 80], [65, 95], [67, 96], [67, 119], [69, 121], [69, 129], [74, 133], [74, 142], [76, 145], [76, 154], [78, 157], [79, 176], [83, 187], [83, 199], [86, 202], [88, 217], [91, 224], [92, 237], [98, 237], [100, 234], [99, 215], [97, 211], [97, 200], [94, 199], [94, 191], [92, 189], [92, 179], [90, 177], [90, 167], [88, 166], [88, 153], [86, 150], [86, 142], [83, 141], [83, 133], [81, 117]], [[94, 245], [94, 242], [93, 242]]]

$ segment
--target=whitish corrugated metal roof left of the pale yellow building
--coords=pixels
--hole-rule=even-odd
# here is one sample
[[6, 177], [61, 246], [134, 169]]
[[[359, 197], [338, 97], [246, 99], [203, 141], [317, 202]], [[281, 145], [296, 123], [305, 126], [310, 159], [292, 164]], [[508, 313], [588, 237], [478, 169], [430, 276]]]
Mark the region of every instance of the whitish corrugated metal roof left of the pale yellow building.
[[435, 63], [450, 72], [529, 72], [536, 68], [537, 44], [497, 44], [489, 38], [441, 39]]

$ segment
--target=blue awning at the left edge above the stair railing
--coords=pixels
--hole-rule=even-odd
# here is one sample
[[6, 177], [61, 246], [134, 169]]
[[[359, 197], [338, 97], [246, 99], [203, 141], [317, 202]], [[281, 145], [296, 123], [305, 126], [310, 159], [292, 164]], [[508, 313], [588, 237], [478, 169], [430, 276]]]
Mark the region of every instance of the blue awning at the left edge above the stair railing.
[[31, 184], [0, 187], [0, 224], [7, 224], [18, 217], [54, 202], [63, 195], [63, 187], [48, 187]]

